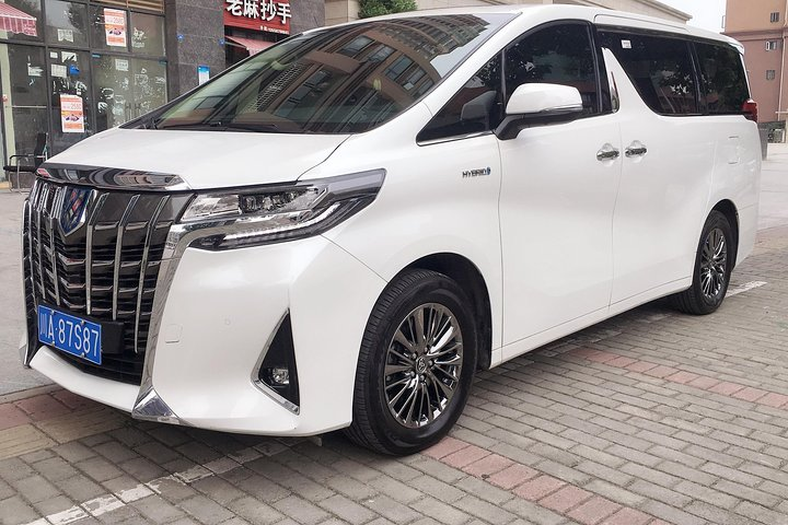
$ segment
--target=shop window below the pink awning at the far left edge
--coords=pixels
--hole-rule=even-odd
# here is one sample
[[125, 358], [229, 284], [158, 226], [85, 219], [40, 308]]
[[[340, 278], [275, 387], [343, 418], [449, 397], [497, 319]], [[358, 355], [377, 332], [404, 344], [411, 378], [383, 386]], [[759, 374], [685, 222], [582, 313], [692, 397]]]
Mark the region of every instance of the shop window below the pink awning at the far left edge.
[[44, 48], [0, 44], [0, 62], [9, 66], [2, 78], [7, 154], [32, 153], [36, 136], [49, 129]]

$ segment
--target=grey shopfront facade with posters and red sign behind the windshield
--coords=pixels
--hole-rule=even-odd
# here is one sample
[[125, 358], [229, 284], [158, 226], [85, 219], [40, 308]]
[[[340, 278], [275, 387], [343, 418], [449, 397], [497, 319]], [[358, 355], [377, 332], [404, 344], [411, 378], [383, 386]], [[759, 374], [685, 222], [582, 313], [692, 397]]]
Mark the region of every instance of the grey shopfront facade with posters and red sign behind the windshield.
[[324, 24], [323, 0], [0, 0], [0, 158], [39, 133], [56, 154]]

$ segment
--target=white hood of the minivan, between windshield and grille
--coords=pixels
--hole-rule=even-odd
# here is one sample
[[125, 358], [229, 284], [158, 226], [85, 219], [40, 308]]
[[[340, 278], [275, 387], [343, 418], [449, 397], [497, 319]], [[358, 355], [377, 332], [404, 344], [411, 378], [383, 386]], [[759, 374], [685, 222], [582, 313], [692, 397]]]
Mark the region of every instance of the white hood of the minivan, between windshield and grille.
[[296, 180], [348, 137], [115, 128], [78, 142], [46, 165], [177, 175], [193, 189], [253, 186]]

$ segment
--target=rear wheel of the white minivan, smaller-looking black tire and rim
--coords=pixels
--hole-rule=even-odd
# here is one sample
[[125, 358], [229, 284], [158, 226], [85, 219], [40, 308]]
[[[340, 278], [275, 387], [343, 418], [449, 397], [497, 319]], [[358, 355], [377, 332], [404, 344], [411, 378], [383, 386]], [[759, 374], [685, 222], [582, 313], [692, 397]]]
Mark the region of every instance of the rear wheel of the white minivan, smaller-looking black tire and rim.
[[[723, 243], [725, 260], [721, 262], [717, 259], [717, 254], [709, 259], [709, 252], [705, 252], [709, 247], [707, 243], [716, 245], [711, 238], [714, 234], [721, 235]], [[692, 315], [708, 315], [719, 308], [728, 292], [730, 275], [735, 264], [737, 247], [733, 238], [733, 230], [728, 219], [717, 210], [711, 211], [700, 233], [692, 287], [671, 296], [675, 308]], [[720, 265], [723, 268], [720, 268]]]

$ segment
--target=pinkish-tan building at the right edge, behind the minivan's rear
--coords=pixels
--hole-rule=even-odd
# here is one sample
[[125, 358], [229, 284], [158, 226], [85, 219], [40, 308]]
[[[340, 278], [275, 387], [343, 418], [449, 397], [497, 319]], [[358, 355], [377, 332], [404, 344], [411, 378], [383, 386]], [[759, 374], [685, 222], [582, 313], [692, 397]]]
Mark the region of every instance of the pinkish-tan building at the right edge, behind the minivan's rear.
[[787, 16], [788, 0], [727, 2], [725, 34], [744, 45], [744, 63], [761, 122], [784, 122], [788, 115]]

